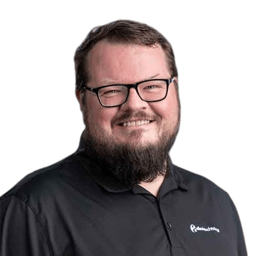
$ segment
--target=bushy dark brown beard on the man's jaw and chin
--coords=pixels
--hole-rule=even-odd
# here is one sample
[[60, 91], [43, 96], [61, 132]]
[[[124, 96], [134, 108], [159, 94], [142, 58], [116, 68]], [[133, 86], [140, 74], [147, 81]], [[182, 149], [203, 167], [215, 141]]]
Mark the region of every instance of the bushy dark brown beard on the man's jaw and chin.
[[139, 138], [143, 133], [140, 130], [131, 133], [136, 138], [135, 142], [116, 143], [115, 138], [106, 136], [101, 127], [91, 127], [88, 123], [84, 125], [86, 129], [81, 136], [84, 154], [94, 159], [105, 172], [114, 175], [121, 183], [132, 187], [140, 182], [152, 182], [158, 176], [164, 176], [165, 179], [169, 177], [171, 158], [168, 154], [179, 129], [175, 133], [165, 129], [157, 142], [140, 145]]

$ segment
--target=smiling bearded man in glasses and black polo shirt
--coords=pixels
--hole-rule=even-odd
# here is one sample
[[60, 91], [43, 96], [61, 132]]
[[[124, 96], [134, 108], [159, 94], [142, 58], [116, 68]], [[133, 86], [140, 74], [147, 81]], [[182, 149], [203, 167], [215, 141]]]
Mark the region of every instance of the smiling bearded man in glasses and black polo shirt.
[[247, 255], [229, 194], [170, 159], [181, 103], [168, 40], [115, 20], [90, 31], [74, 70], [78, 149], [2, 196], [1, 256]]

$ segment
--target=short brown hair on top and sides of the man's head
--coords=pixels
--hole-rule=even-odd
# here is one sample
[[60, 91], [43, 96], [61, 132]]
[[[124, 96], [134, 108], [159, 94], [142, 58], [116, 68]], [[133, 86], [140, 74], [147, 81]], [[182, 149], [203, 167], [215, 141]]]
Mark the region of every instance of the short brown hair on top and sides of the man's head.
[[[173, 46], [161, 32], [137, 20], [116, 19], [113, 22], [93, 27], [76, 48], [73, 56], [76, 90], [81, 90], [89, 82], [90, 67], [87, 61], [89, 52], [97, 42], [103, 39], [114, 44], [137, 44], [148, 47], [159, 44], [167, 57], [170, 75], [176, 76], [179, 81]], [[178, 84], [176, 84], [176, 89], [179, 93]]]

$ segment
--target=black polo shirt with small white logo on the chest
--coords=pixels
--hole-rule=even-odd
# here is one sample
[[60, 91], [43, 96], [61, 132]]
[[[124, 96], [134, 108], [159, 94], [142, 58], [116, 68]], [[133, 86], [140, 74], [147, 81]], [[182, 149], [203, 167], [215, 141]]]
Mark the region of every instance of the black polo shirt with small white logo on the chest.
[[169, 164], [155, 197], [75, 153], [35, 170], [0, 200], [1, 256], [245, 256], [229, 194]]

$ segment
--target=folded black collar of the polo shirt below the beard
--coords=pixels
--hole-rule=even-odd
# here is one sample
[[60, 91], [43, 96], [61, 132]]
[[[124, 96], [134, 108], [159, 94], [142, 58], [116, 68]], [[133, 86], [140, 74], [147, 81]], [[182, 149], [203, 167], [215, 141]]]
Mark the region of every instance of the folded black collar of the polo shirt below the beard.
[[[145, 188], [140, 185], [135, 185], [134, 187], [127, 186], [121, 183], [114, 175], [105, 172], [104, 167], [97, 163], [97, 161], [91, 158], [86, 151], [78, 150], [75, 153], [75, 157], [82, 164], [83, 168], [90, 174], [90, 176], [105, 190], [113, 193], [121, 193], [124, 191], [132, 190], [134, 194], [150, 194]], [[170, 156], [168, 155], [168, 172], [169, 177], [164, 179], [160, 190], [159, 197], [162, 197], [164, 194], [168, 193], [170, 190], [177, 188], [187, 190], [187, 186], [184, 184], [184, 180], [181, 175], [175, 172], [173, 167], [173, 162]]]

